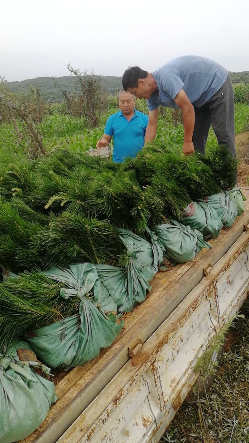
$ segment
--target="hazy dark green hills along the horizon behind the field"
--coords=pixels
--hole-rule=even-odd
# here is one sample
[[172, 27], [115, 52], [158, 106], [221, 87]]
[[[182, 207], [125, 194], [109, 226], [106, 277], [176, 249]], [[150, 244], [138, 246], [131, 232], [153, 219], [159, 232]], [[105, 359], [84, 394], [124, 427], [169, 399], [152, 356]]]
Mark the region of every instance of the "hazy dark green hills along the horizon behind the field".
[[[249, 71], [230, 72], [230, 76], [233, 83], [249, 82]], [[102, 76], [101, 80], [103, 89], [110, 94], [114, 94], [116, 89], [122, 87], [122, 77]], [[60, 102], [63, 100], [63, 94], [59, 88], [65, 89], [67, 92], [72, 92], [75, 89], [75, 82], [75, 77], [57, 77], [56, 83], [58, 87], [56, 88], [53, 77], [38, 77], [23, 80], [22, 82], [8, 82], [8, 87], [14, 93], [21, 93], [24, 90], [28, 91], [31, 85], [39, 86], [44, 100], [47, 101], [53, 98], [54, 101]]]

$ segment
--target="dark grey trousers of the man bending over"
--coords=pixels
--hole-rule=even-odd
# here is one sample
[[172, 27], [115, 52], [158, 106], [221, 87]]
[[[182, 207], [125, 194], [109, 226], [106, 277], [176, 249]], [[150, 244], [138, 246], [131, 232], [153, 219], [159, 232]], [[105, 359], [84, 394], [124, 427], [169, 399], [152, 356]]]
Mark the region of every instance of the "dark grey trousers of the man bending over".
[[226, 145], [236, 156], [234, 136], [234, 91], [230, 75], [226, 82], [203, 106], [195, 109], [193, 144], [195, 151], [205, 154], [210, 125], [215, 131], [218, 144]]

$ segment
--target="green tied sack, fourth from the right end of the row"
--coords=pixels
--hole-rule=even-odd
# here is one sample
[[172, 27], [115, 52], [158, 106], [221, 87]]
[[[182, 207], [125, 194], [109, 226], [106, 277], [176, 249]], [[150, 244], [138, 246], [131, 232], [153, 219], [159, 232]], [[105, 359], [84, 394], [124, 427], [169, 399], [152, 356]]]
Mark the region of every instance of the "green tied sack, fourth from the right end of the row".
[[164, 246], [164, 255], [172, 263], [186, 263], [193, 260], [202, 248], [212, 247], [198, 230], [175, 220], [171, 223], [153, 226], [152, 230]]

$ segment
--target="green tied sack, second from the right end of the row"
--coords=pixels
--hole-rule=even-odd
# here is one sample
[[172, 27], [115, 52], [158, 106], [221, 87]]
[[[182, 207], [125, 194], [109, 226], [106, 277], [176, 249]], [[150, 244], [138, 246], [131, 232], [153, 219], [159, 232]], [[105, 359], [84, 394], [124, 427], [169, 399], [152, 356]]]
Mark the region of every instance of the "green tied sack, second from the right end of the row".
[[221, 219], [225, 228], [230, 228], [234, 224], [238, 210], [229, 195], [220, 192], [219, 194], [209, 195], [203, 201], [217, 212], [218, 218]]

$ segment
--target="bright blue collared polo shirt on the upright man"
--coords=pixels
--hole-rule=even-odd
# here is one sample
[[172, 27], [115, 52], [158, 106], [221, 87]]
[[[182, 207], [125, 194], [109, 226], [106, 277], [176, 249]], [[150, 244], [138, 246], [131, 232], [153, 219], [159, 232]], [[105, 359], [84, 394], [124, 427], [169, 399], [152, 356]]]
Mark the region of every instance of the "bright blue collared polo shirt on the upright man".
[[144, 146], [144, 138], [149, 118], [134, 109], [130, 121], [121, 111], [112, 114], [104, 128], [104, 134], [113, 136], [113, 161], [122, 163], [126, 157], [135, 157]]

